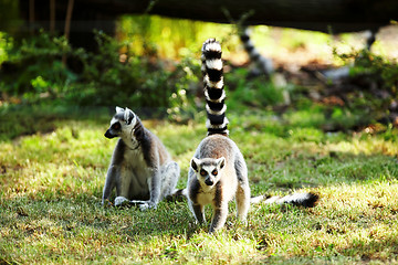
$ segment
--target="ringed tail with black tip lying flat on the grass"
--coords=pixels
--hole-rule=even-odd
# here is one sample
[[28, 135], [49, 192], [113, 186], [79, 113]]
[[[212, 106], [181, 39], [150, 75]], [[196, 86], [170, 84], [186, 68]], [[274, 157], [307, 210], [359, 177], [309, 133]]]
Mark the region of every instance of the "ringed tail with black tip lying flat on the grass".
[[305, 208], [313, 208], [316, 205], [320, 197], [314, 193], [293, 193], [285, 197], [265, 197], [259, 195], [250, 199], [250, 203], [275, 203], [275, 204], [292, 204], [296, 206], [305, 206]]

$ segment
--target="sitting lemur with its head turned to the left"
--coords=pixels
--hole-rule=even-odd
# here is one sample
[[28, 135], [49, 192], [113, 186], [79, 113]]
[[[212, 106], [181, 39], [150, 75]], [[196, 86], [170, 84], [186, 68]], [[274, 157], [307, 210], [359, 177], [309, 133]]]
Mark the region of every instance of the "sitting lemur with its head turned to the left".
[[156, 208], [161, 199], [176, 191], [179, 166], [130, 109], [116, 107], [105, 137], [121, 138], [107, 170], [103, 204], [114, 188], [116, 206], [137, 204], [140, 210]]

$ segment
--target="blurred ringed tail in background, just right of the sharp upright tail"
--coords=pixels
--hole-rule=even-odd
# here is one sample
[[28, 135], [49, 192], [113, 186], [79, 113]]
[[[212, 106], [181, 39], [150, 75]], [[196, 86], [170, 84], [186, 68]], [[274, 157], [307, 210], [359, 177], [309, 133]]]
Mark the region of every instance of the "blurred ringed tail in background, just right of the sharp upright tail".
[[255, 49], [253, 42], [250, 40], [249, 28], [243, 26], [242, 29], [240, 29], [240, 40], [243, 43], [244, 50], [249, 54], [250, 60], [258, 66], [258, 68], [253, 68], [250, 72], [250, 75], [258, 76], [261, 74], [265, 74], [265, 76], [270, 76], [274, 72], [272, 60], [264, 57]]

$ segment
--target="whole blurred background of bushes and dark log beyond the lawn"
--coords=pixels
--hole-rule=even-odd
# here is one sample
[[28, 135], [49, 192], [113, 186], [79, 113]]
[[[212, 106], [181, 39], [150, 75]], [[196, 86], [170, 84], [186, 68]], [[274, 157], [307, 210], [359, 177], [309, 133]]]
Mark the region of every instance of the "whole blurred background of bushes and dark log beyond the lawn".
[[23, 134], [7, 125], [12, 115], [60, 118], [115, 105], [177, 123], [200, 118], [208, 38], [222, 44], [229, 110], [316, 108], [324, 131], [397, 127], [397, 7], [0, 0], [1, 134]]

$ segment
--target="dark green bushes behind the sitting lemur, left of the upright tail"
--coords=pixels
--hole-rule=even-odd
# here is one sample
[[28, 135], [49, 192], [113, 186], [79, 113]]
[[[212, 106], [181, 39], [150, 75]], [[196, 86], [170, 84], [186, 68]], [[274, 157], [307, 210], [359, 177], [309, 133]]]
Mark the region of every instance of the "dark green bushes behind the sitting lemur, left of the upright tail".
[[[96, 53], [72, 49], [64, 38], [51, 38], [45, 32], [14, 43], [0, 72], [0, 86], [28, 103], [49, 104], [45, 98], [50, 98], [50, 104], [55, 99], [81, 106], [167, 108], [176, 105], [171, 95], [180, 99], [182, 91], [197, 81], [192, 72], [198, 67], [192, 63], [165, 64], [156, 57], [137, 56], [126, 43], [102, 32], [96, 33]], [[69, 61], [81, 64], [82, 70], [72, 72]]]

